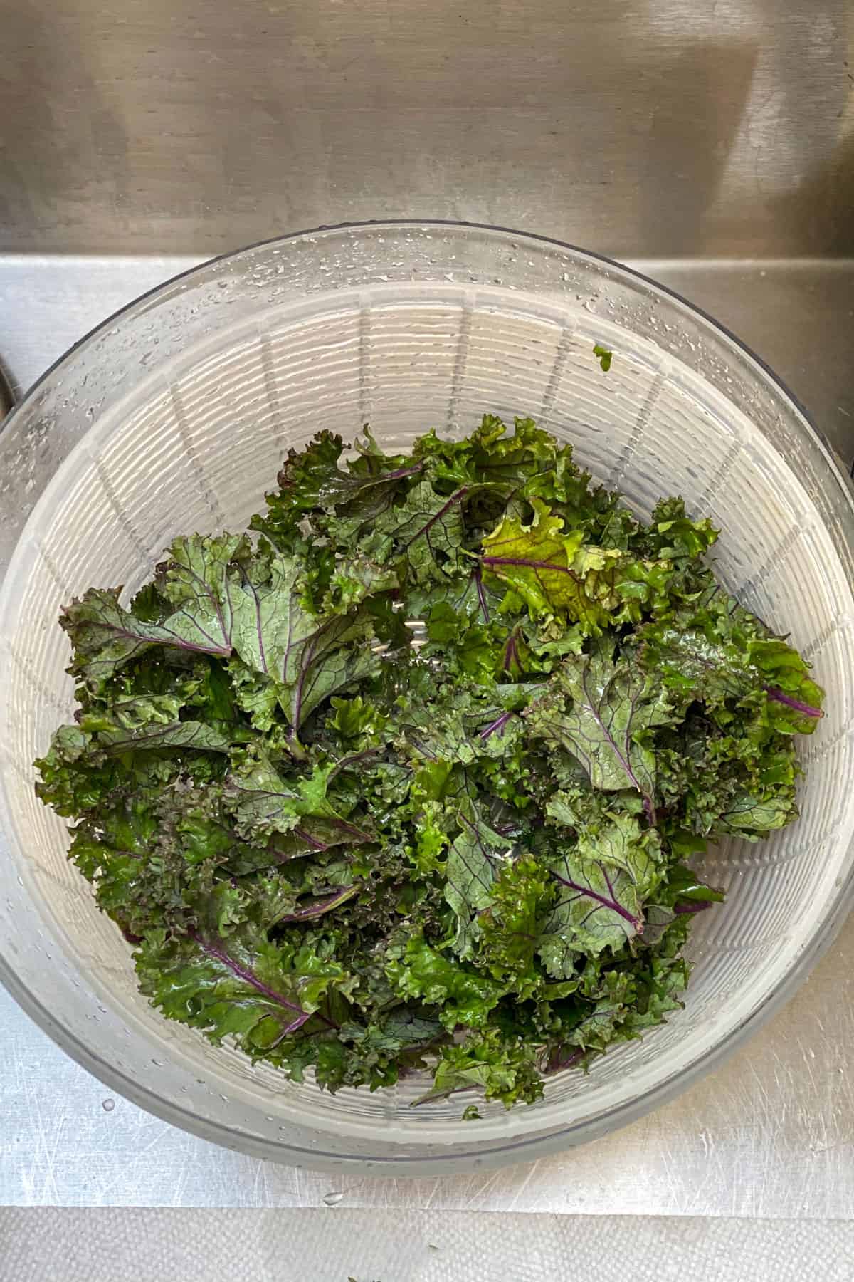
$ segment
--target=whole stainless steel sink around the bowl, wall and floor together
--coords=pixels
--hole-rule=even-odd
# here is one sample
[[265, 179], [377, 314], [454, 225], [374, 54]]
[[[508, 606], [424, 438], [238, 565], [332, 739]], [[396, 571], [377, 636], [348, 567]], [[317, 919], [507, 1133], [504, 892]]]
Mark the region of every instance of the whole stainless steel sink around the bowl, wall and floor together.
[[[257, 238], [493, 222], [691, 299], [850, 463], [853, 46], [845, 0], [27, 0], [6, 15], [0, 76], [0, 363], [22, 391], [132, 297]], [[351, 1208], [849, 1217], [853, 977], [849, 923], [720, 1073], [586, 1149], [337, 1191]], [[106, 1108], [4, 994], [0, 1017], [0, 1204], [330, 1192]]]

